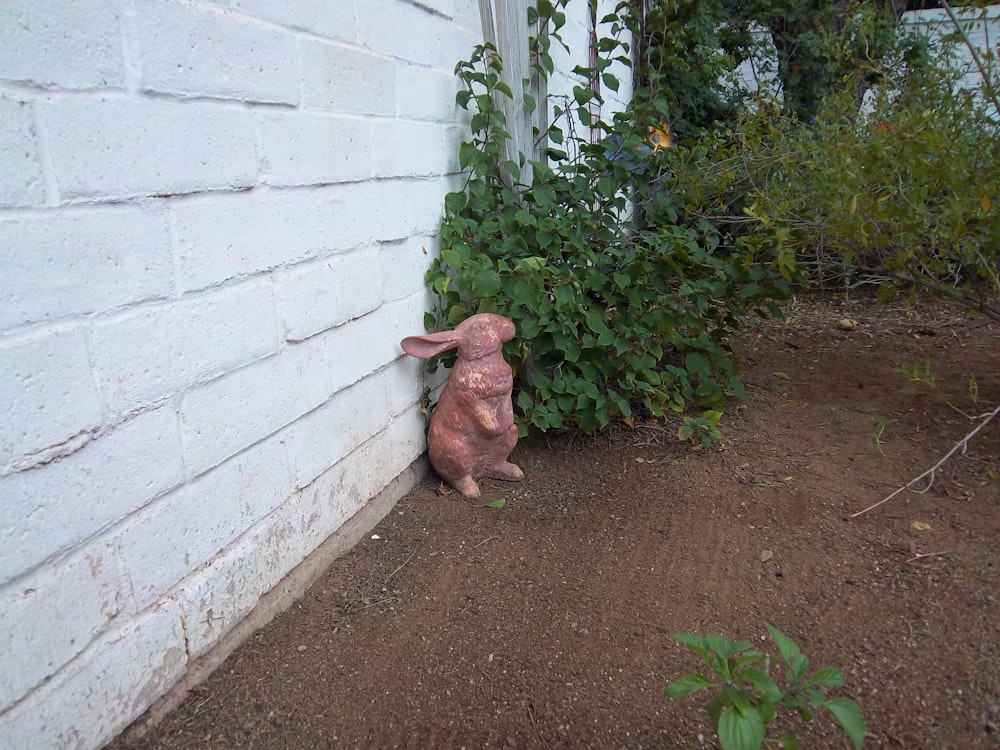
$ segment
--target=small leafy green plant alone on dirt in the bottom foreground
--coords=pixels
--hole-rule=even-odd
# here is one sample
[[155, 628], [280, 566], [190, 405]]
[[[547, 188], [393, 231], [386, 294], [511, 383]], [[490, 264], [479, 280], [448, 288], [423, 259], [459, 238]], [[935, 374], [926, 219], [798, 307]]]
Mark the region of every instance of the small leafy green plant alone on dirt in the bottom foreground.
[[779, 707], [798, 713], [806, 721], [812, 721], [817, 711], [826, 711], [860, 750], [866, 734], [861, 709], [848, 698], [828, 698], [825, 693], [825, 688], [844, 684], [843, 673], [827, 668], [807, 674], [809, 660], [795, 642], [773, 625], [766, 627], [778, 647], [784, 688], [770, 675], [771, 657], [755, 650], [749, 642], [734, 643], [717, 634], [701, 637], [675, 633], [674, 638], [712, 668], [715, 679], [693, 672], [674, 680], [664, 692], [670, 698], [683, 698], [705, 688], [713, 689], [715, 695], [706, 709], [723, 750], [758, 750], [765, 744], [784, 750], [799, 748], [792, 732], [776, 739], [767, 737]]

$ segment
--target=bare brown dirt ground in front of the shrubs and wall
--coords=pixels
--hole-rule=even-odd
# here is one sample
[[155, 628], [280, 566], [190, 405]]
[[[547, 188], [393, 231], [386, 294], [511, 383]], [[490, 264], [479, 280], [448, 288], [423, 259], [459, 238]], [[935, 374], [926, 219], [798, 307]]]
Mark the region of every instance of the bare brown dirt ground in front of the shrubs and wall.
[[[525, 480], [480, 501], [429, 480], [113, 747], [717, 747], [699, 696], [663, 694], [700, 668], [671, 634], [774, 652], [771, 622], [843, 670], [866, 748], [1000, 748], [1000, 419], [922, 494], [851, 517], [1000, 401], [1000, 325], [800, 300], [740, 351], [750, 399], [712, 448], [661, 420], [523, 440]], [[938, 391], [893, 372], [928, 357]], [[783, 728], [849, 747], [825, 717]]]

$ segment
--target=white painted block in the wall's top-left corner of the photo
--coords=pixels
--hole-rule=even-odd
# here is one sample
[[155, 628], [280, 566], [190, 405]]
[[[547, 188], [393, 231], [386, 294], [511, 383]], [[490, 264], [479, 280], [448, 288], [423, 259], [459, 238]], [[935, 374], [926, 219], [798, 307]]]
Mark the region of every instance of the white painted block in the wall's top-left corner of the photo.
[[121, 87], [117, 6], [112, 0], [5, 0], [0, 79], [67, 89]]

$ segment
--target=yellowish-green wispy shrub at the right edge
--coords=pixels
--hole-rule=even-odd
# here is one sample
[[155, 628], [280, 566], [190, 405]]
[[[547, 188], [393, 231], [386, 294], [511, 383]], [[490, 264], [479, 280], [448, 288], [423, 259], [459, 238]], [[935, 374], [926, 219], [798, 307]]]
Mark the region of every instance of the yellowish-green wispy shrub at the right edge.
[[[1000, 319], [995, 83], [961, 88], [954, 44], [915, 55], [927, 45], [901, 38], [845, 76], [811, 123], [759, 102], [706, 139], [708, 167], [685, 186], [690, 210], [743, 223], [738, 246], [788, 278], [876, 284], [885, 298], [922, 286]], [[881, 84], [859, 111], [873, 77]]]

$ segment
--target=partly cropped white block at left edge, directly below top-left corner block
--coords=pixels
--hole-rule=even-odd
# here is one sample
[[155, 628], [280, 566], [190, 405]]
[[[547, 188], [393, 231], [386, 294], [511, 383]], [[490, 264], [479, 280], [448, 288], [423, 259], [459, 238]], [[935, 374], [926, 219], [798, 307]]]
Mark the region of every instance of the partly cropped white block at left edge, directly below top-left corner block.
[[[0, 20], [0, 34], [2, 24]], [[0, 206], [37, 206], [44, 202], [45, 183], [31, 106], [0, 96]]]

